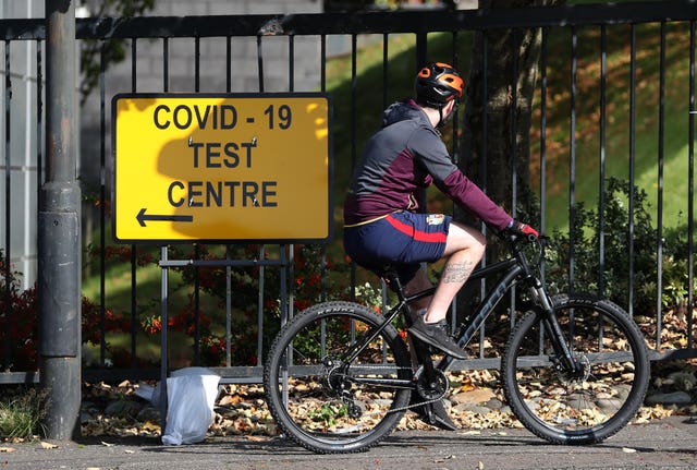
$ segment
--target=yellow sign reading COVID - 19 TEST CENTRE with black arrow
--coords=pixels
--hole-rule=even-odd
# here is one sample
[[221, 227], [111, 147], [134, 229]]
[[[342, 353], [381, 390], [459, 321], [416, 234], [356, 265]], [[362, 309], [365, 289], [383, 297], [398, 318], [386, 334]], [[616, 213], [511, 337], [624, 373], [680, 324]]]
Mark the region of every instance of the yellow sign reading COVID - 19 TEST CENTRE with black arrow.
[[114, 238], [328, 240], [330, 120], [320, 94], [114, 96]]

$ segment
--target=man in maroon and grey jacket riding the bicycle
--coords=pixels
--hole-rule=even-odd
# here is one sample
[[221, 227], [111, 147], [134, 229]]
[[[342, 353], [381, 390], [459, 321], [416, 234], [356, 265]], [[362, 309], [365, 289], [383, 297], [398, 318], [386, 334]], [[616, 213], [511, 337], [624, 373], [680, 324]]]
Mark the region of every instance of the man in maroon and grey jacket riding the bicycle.
[[384, 277], [398, 269], [407, 294], [431, 284], [420, 263], [447, 257], [433, 297], [412, 312], [409, 335], [458, 359], [448, 309], [481, 260], [484, 234], [442, 214], [419, 213], [419, 195], [431, 183], [454, 203], [498, 230], [538, 234], [514, 220], [453, 164], [438, 131], [456, 112], [464, 81], [442, 62], [421, 68], [415, 97], [389, 106], [381, 129], [367, 142], [344, 204], [344, 248], [360, 266]]

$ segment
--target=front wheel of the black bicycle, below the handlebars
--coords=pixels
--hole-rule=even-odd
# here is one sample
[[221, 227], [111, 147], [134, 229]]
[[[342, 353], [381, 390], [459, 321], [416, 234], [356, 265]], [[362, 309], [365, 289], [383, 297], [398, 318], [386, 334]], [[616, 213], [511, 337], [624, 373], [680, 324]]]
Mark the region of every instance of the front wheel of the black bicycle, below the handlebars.
[[629, 315], [607, 300], [552, 299], [564, 341], [580, 371], [563, 366], [543, 315], [528, 312], [504, 351], [504, 393], [518, 420], [557, 444], [592, 444], [620, 431], [641, 406], [649, 381], [644, 337]]

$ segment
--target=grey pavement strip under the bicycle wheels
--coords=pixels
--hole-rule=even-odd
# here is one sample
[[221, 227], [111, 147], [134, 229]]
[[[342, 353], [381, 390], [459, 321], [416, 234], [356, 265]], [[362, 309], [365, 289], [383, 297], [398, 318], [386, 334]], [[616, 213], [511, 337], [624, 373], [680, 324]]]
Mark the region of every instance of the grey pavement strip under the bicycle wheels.
[[633, 424], [604, 443], [547, 444], [526, 430], [400, 431], [360, 454], [316, 455], [283, 437], [213, 437], [163, 446], [159, 438], [90, 437], [0, 443], [0, 470], [211, 469], [697, 469], [697, 419]]

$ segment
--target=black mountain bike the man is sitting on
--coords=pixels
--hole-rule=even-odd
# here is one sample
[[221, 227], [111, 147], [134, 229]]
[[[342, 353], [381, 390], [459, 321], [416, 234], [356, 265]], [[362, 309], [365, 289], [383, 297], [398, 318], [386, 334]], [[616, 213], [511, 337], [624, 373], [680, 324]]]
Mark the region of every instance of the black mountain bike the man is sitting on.
[[[501, 381], [515, 417], [555, 444], [599, 443], [624, 427], [640, 407], [649, 381], [648, 349], [638, 326], [611, 301], [591, 296], [550, 297], [534, 269], [545, 238], [505, 236], [511, 256], [476, 269], [468, 282], [499, 274], [455, 338], [465, 347], [514, 286], [527, 287], [533, 306], [512, 327], [501, 357]], [[524, 251], [537, 249], [530, 264]], [[265, 364], [265, 395], [280, 429], [320, 454], [366, 450], [386, 438], [407, 409], [448, 393], [445, 371], [430, 347], [413, 338], [418, 367], [393, 325], [408, 305], [435, 288], [406, 297], [395, 275], [396, 305], [382, 315], [343, 301], [301, 312], [276, 337]], [[414, 395], [415, 399], [412, 398]]]

